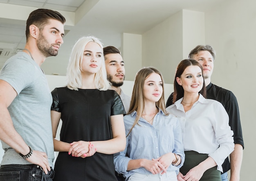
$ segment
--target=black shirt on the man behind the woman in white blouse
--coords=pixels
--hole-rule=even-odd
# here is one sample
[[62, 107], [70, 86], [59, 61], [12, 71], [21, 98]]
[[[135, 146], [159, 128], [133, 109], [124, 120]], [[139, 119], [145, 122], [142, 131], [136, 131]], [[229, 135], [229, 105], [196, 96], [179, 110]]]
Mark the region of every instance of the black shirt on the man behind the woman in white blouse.
[[[242, 126], [240, 122], [240, 114], [236, 96], [229, 90], [219, 87], [210, 83], [207, 87], [207, 98], [217, 100], [226, 109], [229, 115], [229, 126], [234, 132], [234, 143], [240, 144], [244, 148]], [[166, 107], [173, 104], [173, 93], [168, 97], [166, 101]], [[229, 158], [227, 157], [222, 164], [223, 173], [230, 170]]]

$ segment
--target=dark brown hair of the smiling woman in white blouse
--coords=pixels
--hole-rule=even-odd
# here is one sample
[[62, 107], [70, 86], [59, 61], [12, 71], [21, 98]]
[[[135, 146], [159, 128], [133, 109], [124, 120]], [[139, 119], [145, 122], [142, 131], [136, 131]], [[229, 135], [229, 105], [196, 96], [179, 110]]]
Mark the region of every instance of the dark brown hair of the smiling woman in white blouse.
[[[181, 75], [183, 74], [184, 70], [189, 67], [189, 66], [198, 66], [201, 71], [203, 72], [203, 68], [202, 65], [194, 60], [194, 59], [184, 59], [182, 60], [179, 65], [177, 66], [177, 70], [176, 70], [176, 74], [175, 74], [175, 79], [174, 79], [174, 92], [173, 92], [173, 104], [174, 102], [176, 102], [177, 100], [179, 100], [180, 98], [184, 97], [184, 89], [181, 85], [179, 85], [177, 83], [177, 77], [181, 77]], [[204, 96], [204, 98], [206, 98], [206, 87], [205, 87], [205, 83], [203, 83], [203, 87], [202, 89], [199, 91], [200, 94], [202, 94], [202, 96]]]

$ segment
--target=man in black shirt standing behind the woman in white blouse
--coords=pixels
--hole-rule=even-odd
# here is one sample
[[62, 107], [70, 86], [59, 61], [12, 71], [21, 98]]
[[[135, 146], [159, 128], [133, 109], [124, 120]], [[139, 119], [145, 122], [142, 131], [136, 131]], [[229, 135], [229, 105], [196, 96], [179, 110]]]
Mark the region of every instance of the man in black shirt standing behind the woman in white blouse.
[[[229, 115], [229, 126], [234, 131], [234, 151], [229, 158], [225, 159], [222, 164], [223, 173], [221, 175], [222, 181], [227, 181], [227, 171], [230, 170], [230, 181], [239, 181], [240, 168], [243, 159], [243, 135], [240, 122], [240, 114], [236, 96], [229, 90], [218, 87], [211, 83], [211, 74], [213, 72], [213, 61], [215, 60], [215, 50], [209, 46], [198, 45], [189, 53], [190, 59], [195, 59], [203, 67], [203, 76], [205, 85], [207, 86], [207, 98], [217, 100], [225, 107]], [[166, 107], [173, 104], [173, 93], [169, 96]]]

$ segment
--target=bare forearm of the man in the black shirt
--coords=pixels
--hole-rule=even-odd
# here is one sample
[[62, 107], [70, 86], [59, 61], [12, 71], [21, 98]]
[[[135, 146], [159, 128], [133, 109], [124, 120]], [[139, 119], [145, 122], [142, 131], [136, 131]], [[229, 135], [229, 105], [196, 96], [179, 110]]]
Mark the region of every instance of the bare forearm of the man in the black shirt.
[[240, 180], [240, 169], [243, 159], [243, 146], [235, 144], [234, 151], [230, 154], [230, 181]]

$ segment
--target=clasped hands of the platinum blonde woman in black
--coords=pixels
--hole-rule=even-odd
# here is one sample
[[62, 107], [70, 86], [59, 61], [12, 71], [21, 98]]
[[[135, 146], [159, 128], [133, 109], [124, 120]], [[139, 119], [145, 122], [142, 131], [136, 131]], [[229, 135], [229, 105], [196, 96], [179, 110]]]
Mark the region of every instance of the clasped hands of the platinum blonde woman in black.
[[78, 141], [70, 143], [69, 155], [73, 157], [90, 157], [96, 153], [96, 148], [90, 142]]

